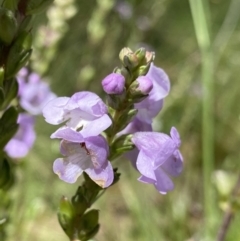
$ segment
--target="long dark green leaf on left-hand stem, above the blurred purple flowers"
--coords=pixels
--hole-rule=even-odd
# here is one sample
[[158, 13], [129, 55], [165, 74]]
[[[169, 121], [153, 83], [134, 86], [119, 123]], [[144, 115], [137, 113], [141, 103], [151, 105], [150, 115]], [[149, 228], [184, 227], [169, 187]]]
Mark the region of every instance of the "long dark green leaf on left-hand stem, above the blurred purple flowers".
[[32, 34], [23, 31], [14, 41], [7, 58], [6, 79], [13, 77], [27, 63], [32, 49]]

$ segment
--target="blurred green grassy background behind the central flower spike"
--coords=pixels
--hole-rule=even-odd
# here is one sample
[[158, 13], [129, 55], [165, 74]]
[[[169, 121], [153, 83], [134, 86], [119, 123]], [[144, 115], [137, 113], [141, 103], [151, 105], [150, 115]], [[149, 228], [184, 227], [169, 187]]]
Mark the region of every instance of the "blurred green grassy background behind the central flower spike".
[[[206, 2], [214, 64], [209, 117], [209, 128], [214, 127], [213, 150], [209, 150], [214, 210], [208, 240], [215, 240], [224, 214], [221, 207], [228, 200], [224, 190], [229, 191], [240, 170], [240, 0]], [[174, 191], [161, 195], [153, 186], [137, 181], [139, 174], [127, 160], [117, 160], [114, 165], [122, 173], [121, 180], [95, 205], [101, 224], [96, 241], [207, 240], [202, 162], [204, 58], [196, 26], [187, 0], [55, 0], [35, 18], [30, 66], [59, 96], [89, 90], [104, 98], [101, 80], [120, 66], [118, 53], [123, 47], [155, 51], [155, 65], [171, 80], [171, 92], [154, 127], [165, 133], [171, 126], [179, 130], [184, 171], [175, 178]], [[74, 194], [81, 179], [66, 184], [52, 172], [52, 163], [60, 156], [59, 142], [49, 138], [54, 130], [43, 117], [37, 119], [37, 141], [19, 164], [12, 190], [9, 241], [68, 240], [57, 221], [57, 206], [62, 195]], [[240, 240], [239, 222], [236, 213], [226, 240]]]

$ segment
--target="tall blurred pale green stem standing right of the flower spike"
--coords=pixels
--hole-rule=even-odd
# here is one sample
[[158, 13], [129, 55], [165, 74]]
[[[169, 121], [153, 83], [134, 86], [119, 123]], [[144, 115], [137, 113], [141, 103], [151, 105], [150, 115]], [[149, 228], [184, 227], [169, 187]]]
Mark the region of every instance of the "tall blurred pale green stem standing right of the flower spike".
[[189, 0], [195, 33], [202, 57], [202, 160], [205, 232], [209, 236], [215, 213], [211, 175], [214, 169], [214, 79], [213, 52], [208, 25], [208, 2], [206, 0]]

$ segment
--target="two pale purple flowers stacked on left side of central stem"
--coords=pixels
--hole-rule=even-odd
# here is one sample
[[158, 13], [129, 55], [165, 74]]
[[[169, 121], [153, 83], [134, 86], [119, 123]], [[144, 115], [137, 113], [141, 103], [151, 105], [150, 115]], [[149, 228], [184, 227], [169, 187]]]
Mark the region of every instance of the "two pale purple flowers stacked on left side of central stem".
[[82, 91], [71, 98], [59, 97], [45, 106], [46, 122], [64, 126], [51, 138], [61, 139], [60, 152], [64, 158], [55, 160], [53, 170], [68, 183], [76, 182], [86, 172], [99, 186], [105, 188], [113, 182], [113, 169], [107, 160], [109, 149], [100, 135], [112, 123], [107, 106], [94, 93]]

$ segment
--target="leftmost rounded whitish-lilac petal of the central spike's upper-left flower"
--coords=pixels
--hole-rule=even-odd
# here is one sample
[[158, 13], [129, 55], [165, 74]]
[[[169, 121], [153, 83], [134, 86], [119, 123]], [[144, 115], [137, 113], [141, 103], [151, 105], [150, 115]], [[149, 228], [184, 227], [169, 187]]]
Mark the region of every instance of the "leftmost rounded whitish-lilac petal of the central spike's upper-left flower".
[[43, 116], [46, 122], [52, 125], [58, 125], [67, 119], [64, 117], [64, 106], [70, 98], [59, 97], [49, 101], [43, 108]]

